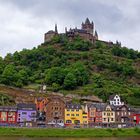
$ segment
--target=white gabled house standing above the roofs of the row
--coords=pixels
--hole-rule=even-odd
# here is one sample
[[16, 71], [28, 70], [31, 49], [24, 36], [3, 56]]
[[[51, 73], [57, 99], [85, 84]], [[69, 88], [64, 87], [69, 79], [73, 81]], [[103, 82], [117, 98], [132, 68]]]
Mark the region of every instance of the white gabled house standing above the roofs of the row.
[[114, 106], [124, 105], [124, 102], [121, 102], [121, 98], [119, 95], [111, 95], [109, 97], [109, 102], [110, 102], [110, 105], [114, 105]]

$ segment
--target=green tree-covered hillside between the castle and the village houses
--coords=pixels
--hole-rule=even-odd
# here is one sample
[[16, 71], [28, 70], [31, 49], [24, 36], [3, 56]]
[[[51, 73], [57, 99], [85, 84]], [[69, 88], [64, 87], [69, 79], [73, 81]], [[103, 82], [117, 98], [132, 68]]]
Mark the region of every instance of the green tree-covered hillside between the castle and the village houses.
[[119, 43], [56, 36], [1, 58], [0, 83], [20, 88], [45, 83], [48, 91], [97, 95], [104, 101], [115, 93], [140, 105], [140, 52]]

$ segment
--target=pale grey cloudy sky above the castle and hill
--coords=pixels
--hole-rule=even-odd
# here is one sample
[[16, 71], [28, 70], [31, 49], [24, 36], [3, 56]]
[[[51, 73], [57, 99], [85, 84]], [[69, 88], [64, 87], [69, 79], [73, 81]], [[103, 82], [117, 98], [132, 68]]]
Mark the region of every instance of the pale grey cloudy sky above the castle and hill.
[[44, 33], [93, 20], [99, 39], [140, 51], [140, 0], [0, 0], [0, 55], [31, 49]]

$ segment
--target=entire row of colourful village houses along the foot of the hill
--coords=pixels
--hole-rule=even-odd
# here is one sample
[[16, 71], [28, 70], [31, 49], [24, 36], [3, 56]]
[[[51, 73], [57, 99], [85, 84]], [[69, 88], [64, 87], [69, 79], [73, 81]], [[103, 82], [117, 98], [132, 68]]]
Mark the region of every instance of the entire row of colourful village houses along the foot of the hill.
[[140, 111], [112, 95], [108, 103], [72, 103], [53, 95], [34, 104], [0, 107], [0, 125], [18, 127], [124, 128], [140, 125]]

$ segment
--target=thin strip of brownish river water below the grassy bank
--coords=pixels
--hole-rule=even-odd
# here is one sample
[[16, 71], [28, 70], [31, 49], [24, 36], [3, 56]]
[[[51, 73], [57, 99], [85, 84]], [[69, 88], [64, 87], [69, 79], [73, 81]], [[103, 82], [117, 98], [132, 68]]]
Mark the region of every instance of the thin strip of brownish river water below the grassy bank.
[[26, 138], [26, 137], [0, 137], [0, 140], [140, 140], [140, 137], [122, 138]]

